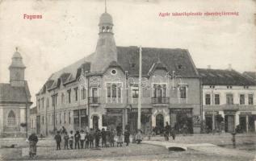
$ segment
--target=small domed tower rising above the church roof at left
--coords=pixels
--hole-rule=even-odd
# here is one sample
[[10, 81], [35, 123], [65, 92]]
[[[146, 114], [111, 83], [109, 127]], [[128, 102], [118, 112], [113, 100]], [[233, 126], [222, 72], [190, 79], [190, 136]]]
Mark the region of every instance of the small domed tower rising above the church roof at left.
[[18, 47], [12, 56], [12, 61], [9, 67], [10, 70], [10, 85], [11, 86], [24, 86], [25, 65], [23, 58], [18, 52]]

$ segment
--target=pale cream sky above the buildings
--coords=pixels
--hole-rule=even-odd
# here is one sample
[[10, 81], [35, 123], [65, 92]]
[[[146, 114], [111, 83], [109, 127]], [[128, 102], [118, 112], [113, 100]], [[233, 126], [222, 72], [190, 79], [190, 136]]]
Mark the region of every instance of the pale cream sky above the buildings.
[[[9, 82], [15, 47], [36, 93], [61, 68], [94, 52], [104, 0], [0, 0], [0, 82]], [[238, 16], [171, 16], [175, 12], [233, 12]], [[117, 46], [185, 48], [197, 68], [255, 71], [254, 0], [107, 0]], [[170, 13], [161, 17], [159, 13]], [[40, 14], [42, 19], [23, 19]], [[35, 103], [33, 105], [36, 105]]]

